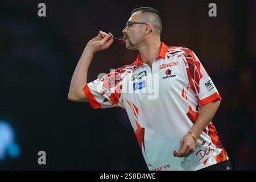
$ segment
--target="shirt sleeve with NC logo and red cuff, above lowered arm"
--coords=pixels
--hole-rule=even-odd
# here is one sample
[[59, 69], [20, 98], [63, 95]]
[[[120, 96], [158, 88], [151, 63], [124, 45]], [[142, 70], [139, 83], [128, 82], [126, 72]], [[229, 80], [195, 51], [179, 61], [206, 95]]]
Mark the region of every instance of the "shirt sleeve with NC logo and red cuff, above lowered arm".
[[214, 100], [222, 100], [216, 86], [207, 71], [201, 64], [198, 57], [188, 48], [181, 48], [184, 53], [184, 73], [189, 86], [200, 100], [200, 106], [208, 104]]

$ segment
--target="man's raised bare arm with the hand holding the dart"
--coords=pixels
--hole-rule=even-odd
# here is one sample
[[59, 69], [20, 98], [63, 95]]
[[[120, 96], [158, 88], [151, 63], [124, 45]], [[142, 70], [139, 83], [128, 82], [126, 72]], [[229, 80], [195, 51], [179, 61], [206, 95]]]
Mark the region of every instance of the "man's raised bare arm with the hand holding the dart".
[[88, 68], [94, 53], [109, 48], [113, 43], [113, 39], [110, 39], [110, 36], [113, 37], [111, 33], [106, 34], [105, 32], [99, 31], [99, 34], [86, 45], [71, 79], [68, 92], [69, 100], [75, 102], [89, 101], [83, 90], [87, 83]]

